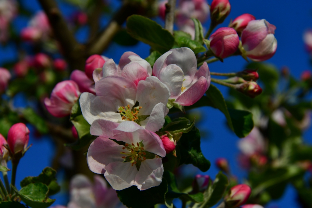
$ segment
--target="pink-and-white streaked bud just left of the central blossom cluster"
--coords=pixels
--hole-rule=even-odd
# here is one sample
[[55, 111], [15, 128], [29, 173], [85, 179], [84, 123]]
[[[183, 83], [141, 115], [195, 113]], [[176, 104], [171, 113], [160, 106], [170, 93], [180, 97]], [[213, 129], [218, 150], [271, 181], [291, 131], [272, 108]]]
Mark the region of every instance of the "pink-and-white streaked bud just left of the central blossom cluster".
[[46, 109], [55, 117], [63, 117], [71, 114], [71, 108], [76, 103], [80, 91], [76, 82], [72, 80], [62, 81], [56, 84], [51, 97], [44, 100]]

